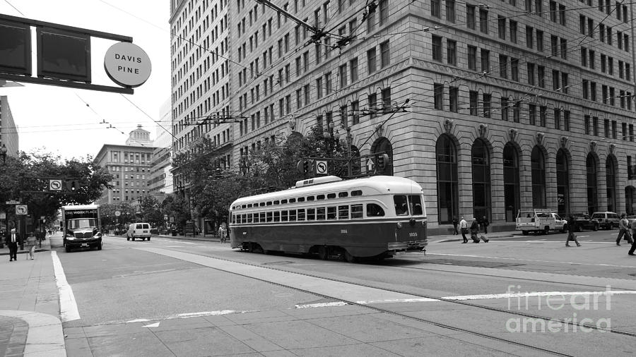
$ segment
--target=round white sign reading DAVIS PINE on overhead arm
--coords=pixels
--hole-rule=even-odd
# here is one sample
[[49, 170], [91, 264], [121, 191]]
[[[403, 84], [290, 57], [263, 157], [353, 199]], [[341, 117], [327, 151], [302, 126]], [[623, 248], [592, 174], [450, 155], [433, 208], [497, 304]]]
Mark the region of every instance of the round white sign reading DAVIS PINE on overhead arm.
[[114, 83], [139, 87], [146, 83], [152, 70], [150, 57], [136, 44], [113, 44], [104, 56], [104, 69]]

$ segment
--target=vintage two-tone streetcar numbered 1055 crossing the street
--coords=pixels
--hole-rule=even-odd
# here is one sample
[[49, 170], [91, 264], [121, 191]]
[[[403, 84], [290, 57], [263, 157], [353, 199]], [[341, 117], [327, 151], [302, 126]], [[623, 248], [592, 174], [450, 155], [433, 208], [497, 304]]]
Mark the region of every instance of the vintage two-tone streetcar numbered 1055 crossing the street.
[[230, 205], [232, 248], [390, 258], [428, 243], [422, 187], [408, 178], [324, 176]]

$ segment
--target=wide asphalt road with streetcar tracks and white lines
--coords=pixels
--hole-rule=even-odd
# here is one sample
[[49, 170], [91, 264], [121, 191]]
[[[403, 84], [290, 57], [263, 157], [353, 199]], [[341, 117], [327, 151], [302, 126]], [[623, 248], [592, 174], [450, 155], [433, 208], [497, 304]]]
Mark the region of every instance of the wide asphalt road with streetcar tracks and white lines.
[[636, 258], [617, 234], [438, 238], [362, 264], [172, 238], [52, 249], [69, 356], [618, 356], [636, 353]]

